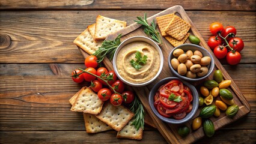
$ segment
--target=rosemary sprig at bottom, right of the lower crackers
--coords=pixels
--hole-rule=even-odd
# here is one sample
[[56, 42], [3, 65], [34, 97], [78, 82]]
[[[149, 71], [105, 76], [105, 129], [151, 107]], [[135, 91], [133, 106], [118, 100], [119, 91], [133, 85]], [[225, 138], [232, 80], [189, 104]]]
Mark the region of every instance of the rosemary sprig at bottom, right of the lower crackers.
[[135, 97], [130, 106], [130, 111], [135, 113], [135, 116], [132, 120], [132, 125], [135, 126], [136, 130], [139, 130], [139, 128], [144, 129], [144, 108], [141, 104], [141, 101]]

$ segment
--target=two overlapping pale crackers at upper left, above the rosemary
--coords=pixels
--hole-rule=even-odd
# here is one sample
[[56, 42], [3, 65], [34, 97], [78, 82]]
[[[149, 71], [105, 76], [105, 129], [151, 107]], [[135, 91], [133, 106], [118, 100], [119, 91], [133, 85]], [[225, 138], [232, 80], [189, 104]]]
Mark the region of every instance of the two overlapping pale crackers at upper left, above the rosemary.
[[126, 22], [115, 20], [104, 16], [97, 16], [96, 23], [90, 25], [80, 34], [74, 43], [85, 52], [92, 55], [102, 46], [103, 40], [114, 32], [126, 27]]

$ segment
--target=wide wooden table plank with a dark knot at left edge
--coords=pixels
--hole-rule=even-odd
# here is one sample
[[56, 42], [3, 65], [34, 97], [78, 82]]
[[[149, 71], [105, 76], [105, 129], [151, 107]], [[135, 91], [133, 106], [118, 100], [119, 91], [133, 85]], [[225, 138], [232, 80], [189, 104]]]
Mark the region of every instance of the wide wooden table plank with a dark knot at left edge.
[[[116, 11], [1, 11], [0, 37], [10, 36], [11, 43], [8, 46], [8, 43], [1, 41], [0, 62], [81, 63], [84, 58], [73, 40], [95, 22], [98, 14], [125, 20], [130, 25], [134, 23], [136, 16], [143, 16], [145, 12], [152, 16], [160, 11], [120, 11], [120, 16]], [[186, 12], [206, 41], [210, 37], [210, 23], [219, 21], [224, 25], [235, 26], [237, 37], [245, 41], [241, 64], [256, 62], [255, 11]]]

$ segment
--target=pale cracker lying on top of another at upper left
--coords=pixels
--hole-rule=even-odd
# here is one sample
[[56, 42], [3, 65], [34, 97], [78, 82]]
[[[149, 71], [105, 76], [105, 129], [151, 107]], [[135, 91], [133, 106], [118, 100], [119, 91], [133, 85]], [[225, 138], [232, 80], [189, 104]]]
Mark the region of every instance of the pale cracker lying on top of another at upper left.
[[113, 34], [125, 27], [126, 22], [124, 21], [98, 15], [96, 18], [94, 37], [96, 40], [104, 40], [109, 34]]

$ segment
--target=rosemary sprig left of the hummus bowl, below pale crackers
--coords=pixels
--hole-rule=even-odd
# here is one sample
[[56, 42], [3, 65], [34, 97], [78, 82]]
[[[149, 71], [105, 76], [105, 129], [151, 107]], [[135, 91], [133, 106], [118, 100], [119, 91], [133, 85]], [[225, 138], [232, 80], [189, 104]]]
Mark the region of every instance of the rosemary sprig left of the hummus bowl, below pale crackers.
[[104, 40], [102, 46], [100, 46], [99, 49], [93, 53], [93, 55], [97, 57], [98, 63], [102, 62], [105, 56], [109, 59], [109, 61], [113, 59], [115, 50], [117, 50], [117, 47], [121, 43], [121, 35], [122, 34], [118, 35], [115, 40]]

